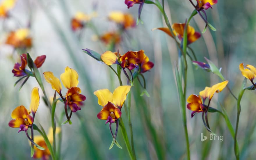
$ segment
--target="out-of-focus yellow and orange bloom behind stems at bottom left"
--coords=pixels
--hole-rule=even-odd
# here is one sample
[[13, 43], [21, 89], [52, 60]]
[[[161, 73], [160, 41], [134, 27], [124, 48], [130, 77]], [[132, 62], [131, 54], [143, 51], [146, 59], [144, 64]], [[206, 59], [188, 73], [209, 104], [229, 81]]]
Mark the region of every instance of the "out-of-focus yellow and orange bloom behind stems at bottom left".
[[[60, 127], [56, 127], [56, 134], [58, 134], [61, 131]], [[52, 144], [53, 143], [53, 134], [52, 134], [52, 128], [49, 129], [47, 137], [49, 139], [49, 142]], [[50, 150], [47, 147], [44, 138], [40, 135], [34, 136], [34, 142], [38, 144], [39, 146], [45, 148], [45, 150], [40, 150], [37, 147], [34, 146], [34, 155], [33, 158], [38, 159], [42, 158], [43, 160], [49, 159], [51, 156]]]

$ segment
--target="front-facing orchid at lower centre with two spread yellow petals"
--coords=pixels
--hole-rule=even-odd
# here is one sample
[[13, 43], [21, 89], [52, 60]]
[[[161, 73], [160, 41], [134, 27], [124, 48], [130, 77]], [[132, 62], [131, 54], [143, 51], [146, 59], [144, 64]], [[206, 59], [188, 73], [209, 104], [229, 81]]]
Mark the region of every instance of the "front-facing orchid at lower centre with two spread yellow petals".
[[[106, 124], [109, 122], [109, 129], [115, 141], [118, 131], [118, 118], [121, 117], [122, 106], [125, 102], [126, 95], [129, 93], [131, 86], [119, 86], [113, 93], [108, 89], [96, 90], [94, 94], [98, 97], [98, 104], [103, 108], [97, 114], [97, 117], [101, 120], [106, 120]], [[115, 135], [112, 132], [111, 124], [116, 123]]]

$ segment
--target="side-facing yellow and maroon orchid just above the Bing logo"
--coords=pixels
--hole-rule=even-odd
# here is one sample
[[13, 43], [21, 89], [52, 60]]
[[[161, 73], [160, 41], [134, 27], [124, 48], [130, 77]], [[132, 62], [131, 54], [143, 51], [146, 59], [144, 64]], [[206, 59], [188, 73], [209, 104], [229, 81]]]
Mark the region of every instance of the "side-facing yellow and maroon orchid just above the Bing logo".
[[[227, 83], [228, 83], [228, 81], [223, 81], [221, 83], [217, 83], [217, 84], [213, 85], [212, 87], [205, 87], [204, 90], [199, 92], [199, 95], [193, 94], [193, 95], [190, 95], [187, 99], [187, 102], [188, 102], [187, 108], [192, 111], [191, 118], [193, 118], [193, 116], [196, 113], [202, 112], [203, 122], [205, 124], [205, 120], [206, 120], [207, 125], [205, 124], [205, 127], [209, 131], [210, 131], [210, 129], [209, 129], [210, 127], [208, 125], [207, 111], [209, 111], [209, 112], [211, 110], [217, 111], [216, 109], [211, 108], [209, 106], [211, 99], [212, 99], [214, 93], [221, 92], [227, 86]], [[207, 98], [209, 99], [209, 101], [208, 101], [208, 104], [205, 104], [205, 100]], [[205, 115], [205, 120], [203, 118], [204, 115]]]

